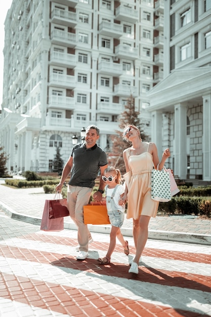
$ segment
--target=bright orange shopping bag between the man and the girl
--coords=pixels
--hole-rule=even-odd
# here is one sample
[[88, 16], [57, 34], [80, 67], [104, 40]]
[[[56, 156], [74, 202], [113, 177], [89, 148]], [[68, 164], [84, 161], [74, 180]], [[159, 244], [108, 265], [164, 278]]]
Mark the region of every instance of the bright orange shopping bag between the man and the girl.
[[83, 206], [83, 222], [85, 224], [110, 224], [106, 202], [91, 202]]

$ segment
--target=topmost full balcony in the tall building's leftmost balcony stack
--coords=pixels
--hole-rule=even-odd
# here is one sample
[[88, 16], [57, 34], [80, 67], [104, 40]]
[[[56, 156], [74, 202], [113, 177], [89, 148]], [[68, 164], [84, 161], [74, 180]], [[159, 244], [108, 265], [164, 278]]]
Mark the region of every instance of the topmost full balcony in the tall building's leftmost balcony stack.
[[51, 13], [51, 22], [57, 24], [61, 24], [62, 22], [62, 25], [75, 27], [75, 25], [77, 24], [76, 13], [54, 8], [54, 10]]

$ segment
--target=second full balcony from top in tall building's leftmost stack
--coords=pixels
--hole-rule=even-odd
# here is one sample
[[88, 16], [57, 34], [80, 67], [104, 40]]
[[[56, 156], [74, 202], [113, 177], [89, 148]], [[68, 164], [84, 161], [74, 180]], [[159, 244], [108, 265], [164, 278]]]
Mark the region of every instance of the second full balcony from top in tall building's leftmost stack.
[[51, 41], [52, 44], [66, 45], [74, 48], [76, 46], [76, 34], [55, 29], [51, 32]]

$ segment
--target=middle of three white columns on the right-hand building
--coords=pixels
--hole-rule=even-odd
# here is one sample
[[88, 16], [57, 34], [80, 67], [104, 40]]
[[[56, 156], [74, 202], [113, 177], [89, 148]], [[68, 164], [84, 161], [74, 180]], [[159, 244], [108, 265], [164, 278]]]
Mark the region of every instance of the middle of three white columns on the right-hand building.
[[181, 179], [187, 176], [187, 108], [184, 104], [175, 105], [175, 167], [174, 174], [179, 175]]

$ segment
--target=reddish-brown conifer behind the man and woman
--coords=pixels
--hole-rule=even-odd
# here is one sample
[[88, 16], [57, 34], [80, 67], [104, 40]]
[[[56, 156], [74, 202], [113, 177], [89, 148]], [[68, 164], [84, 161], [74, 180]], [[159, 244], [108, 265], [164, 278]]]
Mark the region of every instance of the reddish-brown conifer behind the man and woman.
[[125, 173], [122, 152], [125, 148], [128, 148], [130, 146], [130, 143], [128, 143], [126, 140], [122, 138], [122, 131], [127, 124], [132, 124], [139, 128], [141, 132], [141, 138], [143, 141], [149, 138], [149, 136], [147, 136], [142, 130], [143, 124], [141, 124], [140, 122], [139, 111], [136, 111], [135, 109], [135, 102], [132, 95], [130, 96], [128, 102], [125, 105], [125, 110], [120, 114], [119, 117], [118, 126], [121, 129], [121, 131], [116, 130], [115, 132], [117, 135], [111, 135], [113, 146], [111, 152], [107, 153], [108, 164], [115, 166], [115, 168], [118, 168], [121, 174]]

